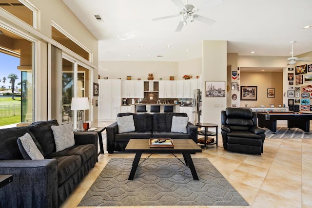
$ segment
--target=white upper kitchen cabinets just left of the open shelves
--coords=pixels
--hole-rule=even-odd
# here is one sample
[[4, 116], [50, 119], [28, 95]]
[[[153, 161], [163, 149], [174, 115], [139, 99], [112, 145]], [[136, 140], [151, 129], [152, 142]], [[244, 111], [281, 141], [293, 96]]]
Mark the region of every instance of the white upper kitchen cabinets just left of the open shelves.
[[144, 98], [144, 82], [141, 80], [123, 80], [122, 97]]

